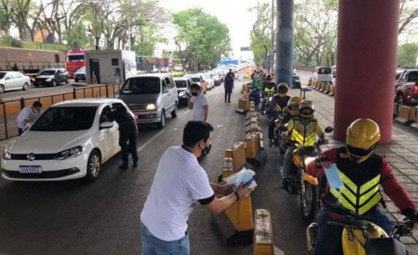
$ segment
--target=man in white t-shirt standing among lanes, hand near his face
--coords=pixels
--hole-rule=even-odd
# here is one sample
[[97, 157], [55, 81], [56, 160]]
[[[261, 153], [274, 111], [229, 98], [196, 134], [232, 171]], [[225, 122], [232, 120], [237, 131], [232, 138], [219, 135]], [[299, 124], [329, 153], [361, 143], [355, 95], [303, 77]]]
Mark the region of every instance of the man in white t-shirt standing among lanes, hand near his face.
[[190, 92], [192, 92], [192, 97], [189, 96], [188, 105], [189, 109], [193, 111], [192, 120], [207, 122], [209, 105], [208, 99], [202, 93], [201, 86], [197, 83], [193, 83], [190, 85]]

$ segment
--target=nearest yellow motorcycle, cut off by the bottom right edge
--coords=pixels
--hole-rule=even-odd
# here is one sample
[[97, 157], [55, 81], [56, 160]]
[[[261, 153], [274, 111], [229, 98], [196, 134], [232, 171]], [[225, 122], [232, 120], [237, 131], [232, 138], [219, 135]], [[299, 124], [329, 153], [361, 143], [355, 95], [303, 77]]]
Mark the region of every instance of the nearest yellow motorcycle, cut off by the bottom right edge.
[[[411, 219], [410, 222], [392, 222], [392, 233], [386, 233], [377, 224], [371, 222], [371, 217], [357, 215], [346, 208], [343, 208], [341, 201], [332, 196], [325, 196], [323, 203], [326, 204], [334, 213], [337, 222], [327, 222], [336, 224], [343, 228], [342, 247], [343, 255], [405, 255], [410, 254], [405, 245], [399, 240], [403, 236], [412, 236], [412, 223], [417, 219]], [[382, 220], [380, 220], [382, 221]], [[318, 224], [311, 223], [307, 228], [307, 245], [309, 254], [314, 254], [316, 234], [318, 233]]]

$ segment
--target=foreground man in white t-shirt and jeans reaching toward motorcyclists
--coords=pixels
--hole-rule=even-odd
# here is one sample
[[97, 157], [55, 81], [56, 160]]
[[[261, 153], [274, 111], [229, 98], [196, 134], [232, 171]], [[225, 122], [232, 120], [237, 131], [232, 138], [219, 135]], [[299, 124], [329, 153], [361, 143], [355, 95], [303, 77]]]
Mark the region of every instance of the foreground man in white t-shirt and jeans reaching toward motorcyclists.
[[187, 220], [196, 202], [210, 213], [222, 213], [254, 190], [241, 184], [233, 192], [229, 185], [209, 182], [197, 158], [208, 153], [212, 131], [206, 122], [187, 122], [183, 145], [167, 149], [160, 159], [141, 212], [142, 254], [190, 254]]

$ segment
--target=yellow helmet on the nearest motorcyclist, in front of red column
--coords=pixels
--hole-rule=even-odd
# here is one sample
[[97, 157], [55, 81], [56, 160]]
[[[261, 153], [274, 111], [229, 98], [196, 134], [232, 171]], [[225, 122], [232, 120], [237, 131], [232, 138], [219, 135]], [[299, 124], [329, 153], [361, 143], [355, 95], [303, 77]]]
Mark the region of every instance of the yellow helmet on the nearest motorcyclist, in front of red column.
[[351, 161], [362, 163], [373, 153], [380, 140], [380, 129], [370, 119], [358, 119], [348, 126], [346, 147]]

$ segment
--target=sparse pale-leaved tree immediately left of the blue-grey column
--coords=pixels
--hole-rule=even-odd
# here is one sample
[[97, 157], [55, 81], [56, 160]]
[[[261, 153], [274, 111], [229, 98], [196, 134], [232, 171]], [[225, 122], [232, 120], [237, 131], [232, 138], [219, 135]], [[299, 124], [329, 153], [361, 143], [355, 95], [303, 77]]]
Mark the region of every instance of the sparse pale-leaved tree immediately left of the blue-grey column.
[[[270, 19], [272, 8], [268, 3], [258, 3], [257, 6], [251, 7], [248, 10], [250, 13], [256, 12], [257, 19], [253, 24], [253, 29], [250, 33], [250, 48], [254, 54], [254, 62], [257, 65], [267, 68], [267, 56], [272, 54], [270, 49], [270, 40], [272, 34], [272, 22]], [[275, 33], [275, 29], [273, 31]]]

